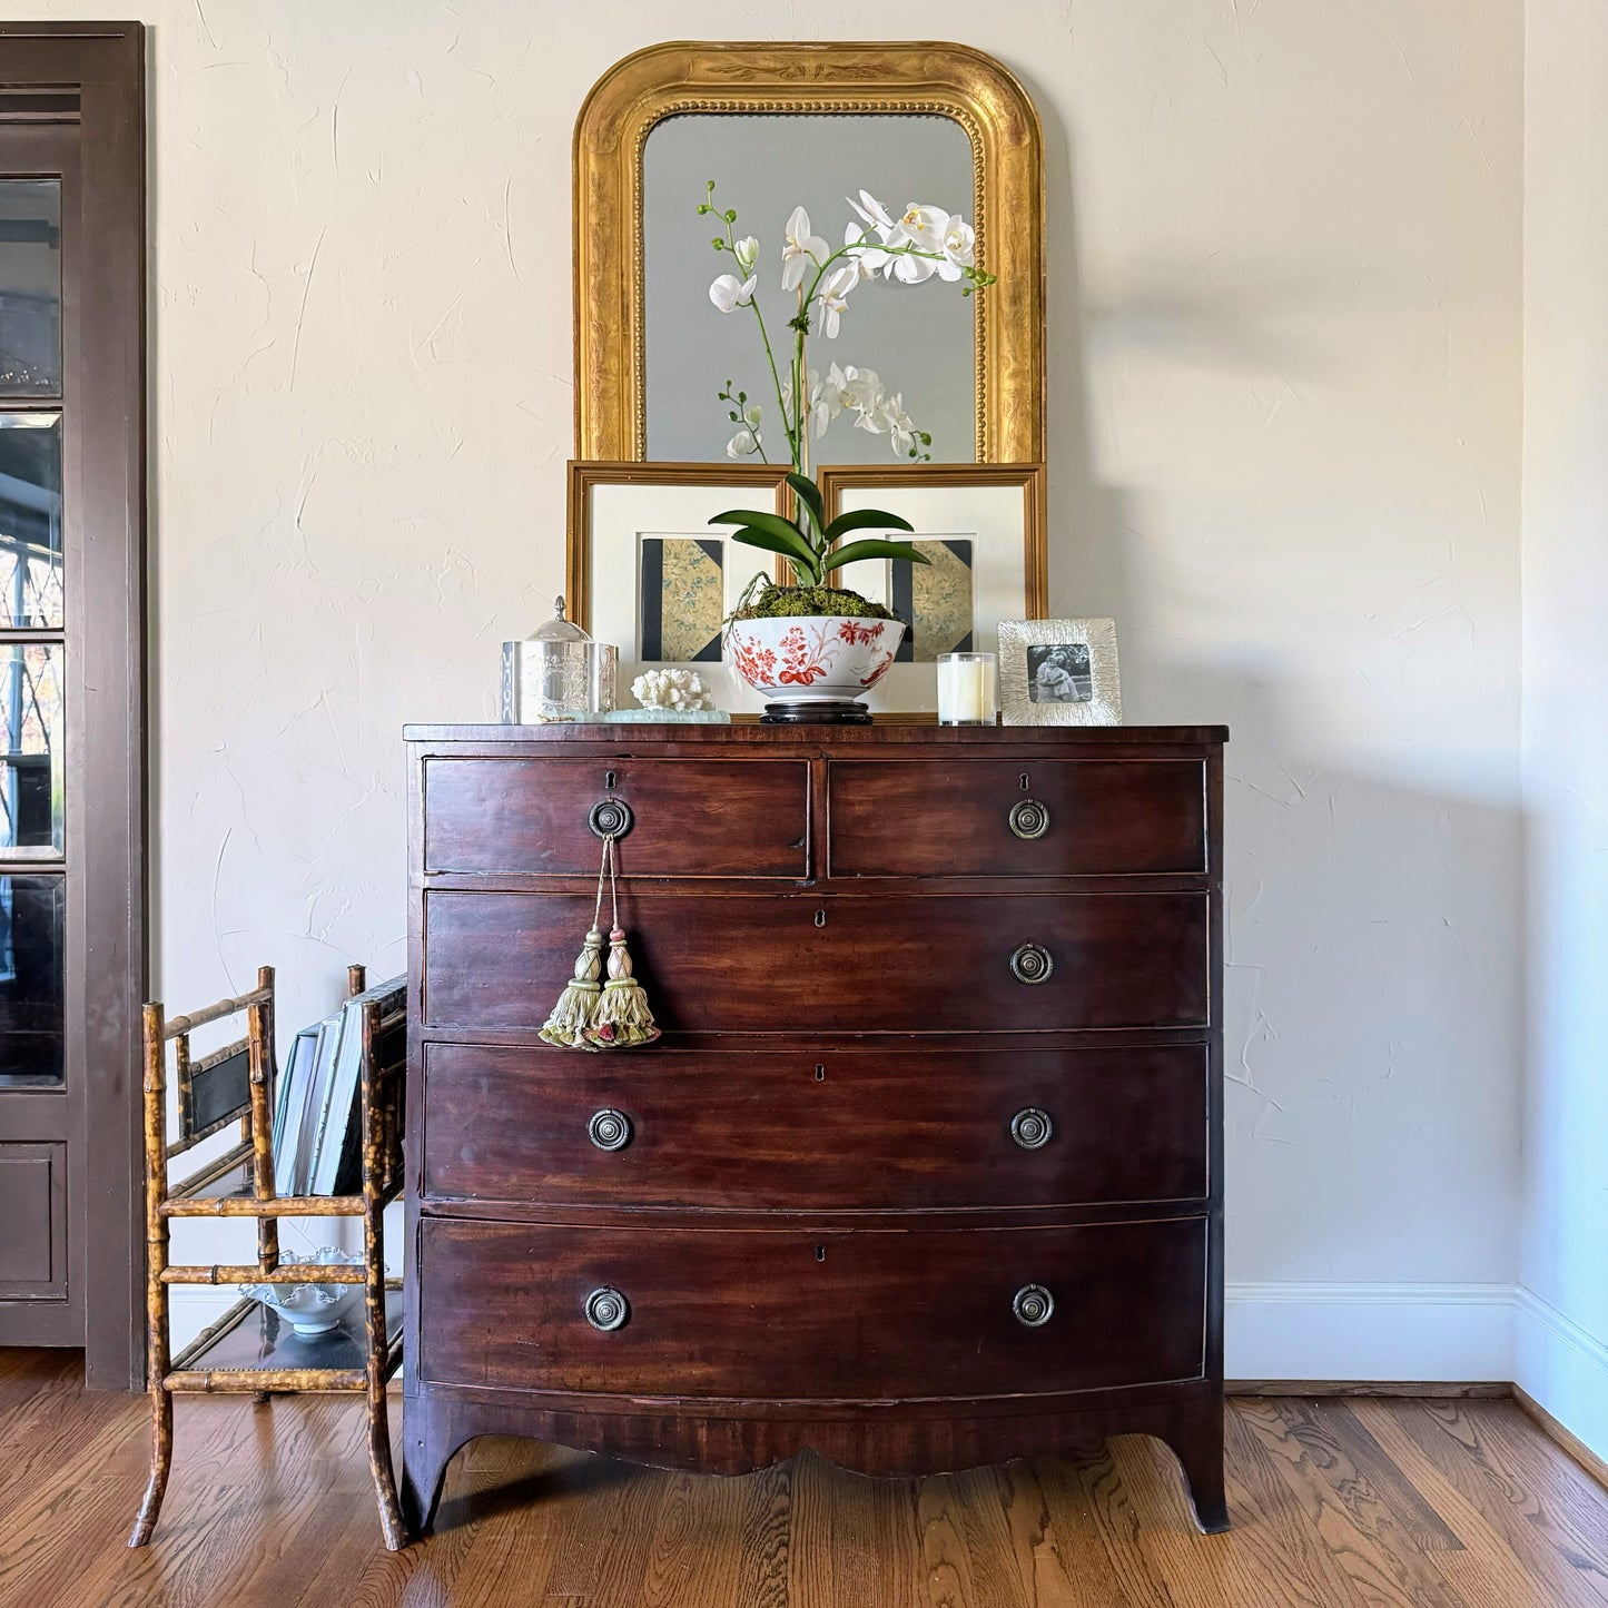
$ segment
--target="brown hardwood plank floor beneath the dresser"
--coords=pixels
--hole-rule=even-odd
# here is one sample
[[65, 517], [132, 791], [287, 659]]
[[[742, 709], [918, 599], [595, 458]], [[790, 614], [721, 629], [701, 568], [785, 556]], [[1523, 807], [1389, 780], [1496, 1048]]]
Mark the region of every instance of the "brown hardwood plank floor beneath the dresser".
[[1227, 1536], [1113, 1441], [925, 1481], [814, 1457], [740, 1479], [519, 1441], [453, 1465], [437, 1534], [379, 1545], [359, 1404], [177, 1404], [156, 1537], [143, 1397], [0, 1351], [0, 1608], [1605, 1608], [1608, 1492], [1510, 1401], [1241, 1397]]

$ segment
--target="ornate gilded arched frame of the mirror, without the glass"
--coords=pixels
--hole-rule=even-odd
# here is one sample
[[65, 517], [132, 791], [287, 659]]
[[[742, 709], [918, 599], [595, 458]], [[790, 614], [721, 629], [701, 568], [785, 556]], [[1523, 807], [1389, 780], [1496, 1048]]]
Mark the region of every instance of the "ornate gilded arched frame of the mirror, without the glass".
[[[643, 148], [683, 113], [941, 116], [971, 140], [978, 463], [1044, 460], [1044, 137], [992, 56], [949, 43], [664, 43], [626, 56], [576, 119], [576, 455], [646, 460]], [[847, 180], [846, 180], [847, 182]]]

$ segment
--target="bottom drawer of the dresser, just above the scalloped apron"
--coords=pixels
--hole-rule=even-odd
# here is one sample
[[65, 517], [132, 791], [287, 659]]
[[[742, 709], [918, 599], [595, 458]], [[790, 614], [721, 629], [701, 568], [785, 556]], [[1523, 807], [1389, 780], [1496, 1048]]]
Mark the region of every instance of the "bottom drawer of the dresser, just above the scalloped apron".
[[[421, 1376], [458, 1384], [888, 1399], [1082, 1391], [1203, 1372], [1201, 1217], [915, 1232], [426, 1217], [418, 1277], [431, 1314]], [[1013, 1311], [1028, 1286], [1053, 1299], [1039, 1327]], [[622, 1327], [589, 1322], [595, 1291], [624, 1296]]]

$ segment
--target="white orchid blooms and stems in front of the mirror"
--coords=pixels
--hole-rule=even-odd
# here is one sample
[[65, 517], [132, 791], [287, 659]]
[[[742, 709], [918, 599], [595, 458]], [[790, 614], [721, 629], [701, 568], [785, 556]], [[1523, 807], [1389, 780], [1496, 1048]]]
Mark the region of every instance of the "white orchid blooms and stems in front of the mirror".
[[[825, 373], [810, 368], [807, 343], [810, 336], [835, 341], [851, 293], [872, 280], [925, 285], [937, 278], [958, 283], [962, 296], [992, 285], [994, 275], [976, 264], [973, 227], [958, 212], [915, 201], [896, 219], [881, 201], [862, 190], [859, 201], [849, 201], [859, 222], [847, 224], [843, 244], [835, 249], [814, 232], [804, 207], [794, 207], [781, 243], [781, 288], [798, 297], [798, 310], [788, 320], [793, 357], [783, 376], [765, 315], [754, 297], [759, 241], [753, 235], [738, 238], [736, 209], [716, 206], [714, 188], [711, 178], [698, 212], [725, 225], [711, 243], [733, 259], [736, 272], [716, 278], [709, 286], [709, 301], [722, 314], [751, 312], [754, 317], [777, 394], [785, 460], [807, 476], [810, 437], [820, 441], [843, 413], [854, 415], [855, 429], [886, 436], [896, 457], [928, 458], [933, 437], [915, 426], [902, 392], [889, 391], [880, 375], [854, 363], [833, 362]], [[725, 447], [727, 457], [777, 461], [767, 450], [764, 407], [749, 400], [746, 391], [733, 389], [730, 379], [719, 396], [727, 404], [727, 418], [736, 426]]]

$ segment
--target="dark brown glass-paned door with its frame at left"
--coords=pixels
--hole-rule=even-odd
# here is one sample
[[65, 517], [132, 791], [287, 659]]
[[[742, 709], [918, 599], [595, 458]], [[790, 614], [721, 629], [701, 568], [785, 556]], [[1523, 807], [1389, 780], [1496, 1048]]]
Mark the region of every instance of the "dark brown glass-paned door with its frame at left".
[[145, 31], [0, 21], [0, 1346], [143, 1376]]

